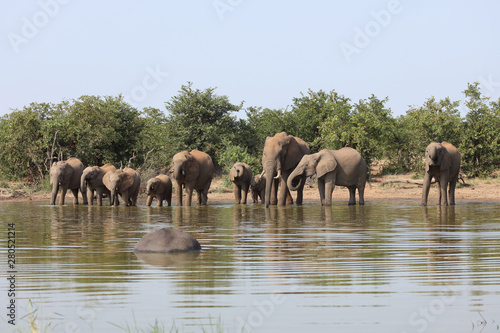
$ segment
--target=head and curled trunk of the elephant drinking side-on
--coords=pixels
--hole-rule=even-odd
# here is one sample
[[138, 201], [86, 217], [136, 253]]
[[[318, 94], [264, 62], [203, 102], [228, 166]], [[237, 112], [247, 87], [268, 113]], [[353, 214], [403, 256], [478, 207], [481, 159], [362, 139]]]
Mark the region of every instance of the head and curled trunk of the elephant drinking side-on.
[[317, 178], [321, 178], [328, 172], [335, 170], [336, 167], [337, 160], [329, 150], [323, 149], [315, 154], [304, 155], [288, 177], [287, 186], [290, 190], [296, 191], [304, 185], [303, 181], [306, 177], [316, 175]]

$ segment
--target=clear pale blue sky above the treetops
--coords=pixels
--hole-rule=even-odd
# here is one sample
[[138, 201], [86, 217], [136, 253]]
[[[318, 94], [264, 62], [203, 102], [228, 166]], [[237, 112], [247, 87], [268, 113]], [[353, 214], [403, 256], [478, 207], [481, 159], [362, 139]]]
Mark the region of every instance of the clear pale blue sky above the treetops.
[[[301, 92], [389, 98], [393, 115], [467, 82], [500, 97], [500, 1], [14, 1], [0, 13], [0, 115], [123, 94], [165, 111], [182, 84], [244, 107]], [[464, 114], [463, 114], [464, 115]]]

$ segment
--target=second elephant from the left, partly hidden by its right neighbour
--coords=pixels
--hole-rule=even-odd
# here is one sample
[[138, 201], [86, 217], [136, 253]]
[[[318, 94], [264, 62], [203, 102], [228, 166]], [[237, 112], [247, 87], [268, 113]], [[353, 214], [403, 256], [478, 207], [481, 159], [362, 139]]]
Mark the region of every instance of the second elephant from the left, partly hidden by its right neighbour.
[[102, 178], [107, 172], [114, 171], [116, 171], [116, 168], [110, 163], [104, 164], [102, 167], [87, 167], [83, 170], [80, 186], [82, 187], [82, 193], [87, 194], [87, 201], [90, 205], [94, 204], [94, 192], [97, 195], [98, 206], [102, 206], [104, 194], [108, 196], [109, 204], [112, 205], [111, 192], [104, 186]]

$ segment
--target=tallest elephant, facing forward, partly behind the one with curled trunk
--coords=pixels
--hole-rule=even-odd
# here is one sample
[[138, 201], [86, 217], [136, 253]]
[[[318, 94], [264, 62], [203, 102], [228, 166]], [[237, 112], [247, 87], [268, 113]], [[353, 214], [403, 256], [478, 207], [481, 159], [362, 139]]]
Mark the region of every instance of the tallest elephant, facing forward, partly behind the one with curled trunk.
[[[267, 137], [262, 153], [262, 167], [266, 179], [265, 205], [277, 202], [278, 205], [292, 204], [292, 196], [287, 186], [290, 173], [300, 162], [302, 156], [309, 154], [308, 144], [285, 132]], [[279, 182], [279, 193], [278, 193]], [[297, 204], [302, 204], [304, 182], [297, 189]], [[276, 200], [277, 197], [277, 200]]]

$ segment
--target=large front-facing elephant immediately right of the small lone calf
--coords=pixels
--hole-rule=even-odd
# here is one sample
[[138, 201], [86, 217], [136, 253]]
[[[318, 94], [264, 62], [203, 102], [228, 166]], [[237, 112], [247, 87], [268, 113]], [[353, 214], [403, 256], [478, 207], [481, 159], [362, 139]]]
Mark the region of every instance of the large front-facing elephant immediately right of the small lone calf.
[[206, 205], [214, 170], [212, 158], [207, 153], [195, 149], [175, 154], [170, 173], [175, 183], [177, 206], [182, 206], [182, 186], [186, 188], [187, 206], [191, 206], [193, 190], [198, 192], [198, 205]]

